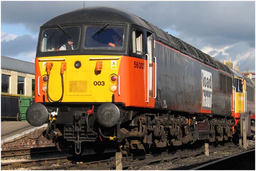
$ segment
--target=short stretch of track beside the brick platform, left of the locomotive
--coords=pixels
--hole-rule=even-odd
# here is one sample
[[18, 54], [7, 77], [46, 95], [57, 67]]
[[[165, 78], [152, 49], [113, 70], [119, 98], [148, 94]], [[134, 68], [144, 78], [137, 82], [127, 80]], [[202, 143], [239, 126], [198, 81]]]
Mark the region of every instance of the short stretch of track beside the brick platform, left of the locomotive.
[[1, 151], [1, 158], [58, 152], [55, 146]]

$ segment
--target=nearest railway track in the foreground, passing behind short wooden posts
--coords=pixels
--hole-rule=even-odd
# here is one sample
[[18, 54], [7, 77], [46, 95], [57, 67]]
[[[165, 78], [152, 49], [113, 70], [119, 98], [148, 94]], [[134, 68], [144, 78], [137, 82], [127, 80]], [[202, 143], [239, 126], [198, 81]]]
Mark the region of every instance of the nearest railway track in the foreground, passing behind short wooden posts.
[[[209, 151], [221, 151], [228, 149], [226, 146], [209, 147]], [[144, 166], [150, 163], [159, 163], [164, 161], [170, 161], [176, 158], [185, 158], [189, 156], [201, 155], [204, 153], [204, 148], [180, 150], [171, 153], [161, 153], [156, 155], [143, 155], [134, 157], [123, 157], [122, 163], [123, 168], [133, 169], [138, 166]], [[114, 169], [115, 168], [115, 152], [93, 154], [93, 155], [82, 155], [81, 156], [66, 156], [57, 158], [45, 158], [27, 161], [17, 161], [12, 163], [2, 163], [2, 169], [40, 169], [40, 170], [69, 170], [69, 169]], [[96, 161], [95, 161], [96, 159]], [[53, 166], [57, 164], [57, 166]]]

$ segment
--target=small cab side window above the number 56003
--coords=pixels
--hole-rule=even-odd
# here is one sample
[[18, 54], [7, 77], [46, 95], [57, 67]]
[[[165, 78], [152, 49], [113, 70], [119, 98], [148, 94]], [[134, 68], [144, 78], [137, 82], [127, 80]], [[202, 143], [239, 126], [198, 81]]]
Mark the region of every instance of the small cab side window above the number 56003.
[[143, 31], [133, 30], [132, 33], [132, 53], [143, 55], [144, 52]]

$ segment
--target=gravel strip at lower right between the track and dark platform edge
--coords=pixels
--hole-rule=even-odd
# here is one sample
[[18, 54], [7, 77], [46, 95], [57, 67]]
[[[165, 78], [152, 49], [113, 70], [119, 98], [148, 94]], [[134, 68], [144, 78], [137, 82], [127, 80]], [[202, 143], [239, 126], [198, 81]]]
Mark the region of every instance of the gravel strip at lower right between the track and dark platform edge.
[[[255, 146], [249, 146], [247, 150], [254, 149]], [[216, 151], [213, 153], [210, 153], [209, 156], [205, 155], [198, 155], [194, 157], [188, 157], [188, 158], [178, 158], [172, 161], [166, 161], [164, 163], [157, 163], [157, 164], [151, 164], [148, 166], [142, 166], [142, 167], [136, 167], [133, 169], [137, 170], [188, 170], [191, 168], [194, 168], [196, 166], [199, 166], [205, 162], [213, 161], [216, 159], [220, 159], [226, 156], [231, 156], [233, 154], [241, 153], [243, 151], [246, 151], [243, 148], [240, 147], [233, 147], [229, 148], [225, 151]], [[220, 168], [221, 169], [221, 168]]]

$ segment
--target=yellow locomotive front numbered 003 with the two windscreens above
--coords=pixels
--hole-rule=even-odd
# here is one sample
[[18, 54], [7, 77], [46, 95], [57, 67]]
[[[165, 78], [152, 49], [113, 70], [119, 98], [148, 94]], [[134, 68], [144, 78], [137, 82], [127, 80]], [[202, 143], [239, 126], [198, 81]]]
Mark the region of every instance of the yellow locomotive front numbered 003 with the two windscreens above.
[[[86, 28], [81, 48], [95, 51], [123, 49], [125, 29], [120, 26], [101, 27]], [[40, 51], [45, 54], [54, 52], [56, 56], [36, 58], [36, 102], [112, 102], [113, 92], [118, 89], [116, 83], [121, 56], [58, 55], [63, 51], [79, 51], [80, 32], [78, 26], [59, 26], [43, 31]], [[114, 43], [112, 37], [115, 36], [119, 44]], [[112, 46], [108, 42], [113, 42]]]

